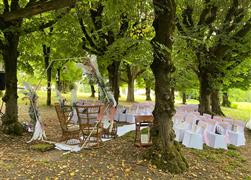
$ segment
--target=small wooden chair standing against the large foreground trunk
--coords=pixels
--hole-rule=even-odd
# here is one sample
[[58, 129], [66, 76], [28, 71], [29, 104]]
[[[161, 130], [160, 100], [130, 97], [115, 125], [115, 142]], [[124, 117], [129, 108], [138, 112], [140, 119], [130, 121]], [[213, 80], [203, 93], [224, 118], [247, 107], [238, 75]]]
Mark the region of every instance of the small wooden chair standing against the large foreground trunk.
[[[152, 115], [137, 115], [135, 116], [135, 125], [136, 125], [136, 131], [135, 131], [134, 145], [138, 147], [152, 145], [150, 130], [153, 125], [153, 116]], [[147, 127], [147, 133], [148, 133], [147, 142], [142, 142], [141, 127]]]

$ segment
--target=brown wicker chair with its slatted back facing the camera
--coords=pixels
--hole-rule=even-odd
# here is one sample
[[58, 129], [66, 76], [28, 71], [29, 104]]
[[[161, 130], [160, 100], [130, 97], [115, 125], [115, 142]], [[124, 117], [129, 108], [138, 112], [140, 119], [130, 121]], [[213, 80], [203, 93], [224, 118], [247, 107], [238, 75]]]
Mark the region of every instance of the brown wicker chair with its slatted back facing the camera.
[[[84, 142], [93, 146], [101, 142], [102, 123], [100, 122], [99, 113], [102, 105], [83, 105], [76, 106], [80, 131], [83, 134]], [[91, 145], [91, 146], [92, 146]]]

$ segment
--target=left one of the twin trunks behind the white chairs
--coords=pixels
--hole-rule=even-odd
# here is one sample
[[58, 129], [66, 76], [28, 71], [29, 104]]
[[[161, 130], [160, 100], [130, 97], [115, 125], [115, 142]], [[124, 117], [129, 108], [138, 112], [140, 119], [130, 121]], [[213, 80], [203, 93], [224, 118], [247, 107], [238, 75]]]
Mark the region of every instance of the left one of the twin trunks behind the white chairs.
[[210, 86], [209, 81], [206, 75], [201, 74], [199, 77], [200, 80], [200, 104], [199, 104], [199, 112], [201, 115], [203, 113], [211, 114], [210, 108]]

